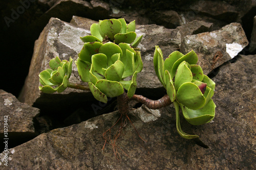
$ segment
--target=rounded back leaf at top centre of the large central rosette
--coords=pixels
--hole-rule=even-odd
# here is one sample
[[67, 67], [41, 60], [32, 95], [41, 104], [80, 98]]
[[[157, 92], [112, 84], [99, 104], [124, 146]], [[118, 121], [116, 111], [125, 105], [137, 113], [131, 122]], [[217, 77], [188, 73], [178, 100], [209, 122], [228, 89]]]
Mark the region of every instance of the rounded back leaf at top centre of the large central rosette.
[[101, 47], [99, 48], [99, 53], [103, 53], [108, 58], [108, 67], [114, 63], [111, 59], [114, 54], [120, 53], [120, 55], [122, 56], [121, 48], [113, 42], [107, 42], [101, 45]]

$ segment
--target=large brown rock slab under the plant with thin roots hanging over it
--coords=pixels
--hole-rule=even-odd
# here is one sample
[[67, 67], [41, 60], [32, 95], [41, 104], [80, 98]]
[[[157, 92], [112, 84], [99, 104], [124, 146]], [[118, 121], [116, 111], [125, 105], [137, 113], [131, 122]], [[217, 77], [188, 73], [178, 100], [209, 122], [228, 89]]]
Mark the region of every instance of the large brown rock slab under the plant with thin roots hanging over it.
[[[139, 108], [131, 111], [129, 117], [147, 142], [138, 137], [128, 122], [116, 142], [121, 161], [115, 158], [111, 145], [106, 144], [104, 152], [101, 150], [104, 145], [102, 133], [119, 118], [119, 114], [113, 112], [52, 130], [12, 148], [8, 167], [2, 162], [0, 168], [255, 169], [255, 59], [256, 56], [242, 55], [220, 67], [214, 78], [213, 100], [217, 105], [214, 121], [191, 126], [181, 118], [182, 129], [198, 134], [208, 149], [197, 145], [203, 145], [200, 141], [178, 135], [174, 108], [154, 111]], [[112, 133], [118, 129], [119, 124]]]

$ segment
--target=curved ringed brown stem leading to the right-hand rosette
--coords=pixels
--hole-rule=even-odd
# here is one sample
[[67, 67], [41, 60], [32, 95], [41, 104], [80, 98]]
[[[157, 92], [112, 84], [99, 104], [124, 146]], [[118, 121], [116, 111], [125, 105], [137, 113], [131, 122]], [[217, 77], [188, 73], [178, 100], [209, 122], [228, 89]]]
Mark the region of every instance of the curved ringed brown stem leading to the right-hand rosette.
[[172, 102], [170, 101], [170, 98], [167, 94], [165, 94], [161, 99], [156, 100], [156, 101], [145, 98], [143, 95], [134, 94], [132, 96], [131, 100], [140, 102], [140, 103], [146, 105], [146, 107], [148, 107], [150, 109], [160, 109], [162, 107], [172, 104]]

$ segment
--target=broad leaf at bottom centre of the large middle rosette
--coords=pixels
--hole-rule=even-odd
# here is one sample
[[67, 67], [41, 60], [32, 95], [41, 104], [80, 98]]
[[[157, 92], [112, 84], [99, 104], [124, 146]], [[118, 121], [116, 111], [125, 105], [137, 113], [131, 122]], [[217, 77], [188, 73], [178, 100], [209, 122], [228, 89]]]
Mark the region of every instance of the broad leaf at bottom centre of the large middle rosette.
[[123, 86], [116, 81], [99, 80], [95, 86], [106, 96], [114, 98], [123, 93]]

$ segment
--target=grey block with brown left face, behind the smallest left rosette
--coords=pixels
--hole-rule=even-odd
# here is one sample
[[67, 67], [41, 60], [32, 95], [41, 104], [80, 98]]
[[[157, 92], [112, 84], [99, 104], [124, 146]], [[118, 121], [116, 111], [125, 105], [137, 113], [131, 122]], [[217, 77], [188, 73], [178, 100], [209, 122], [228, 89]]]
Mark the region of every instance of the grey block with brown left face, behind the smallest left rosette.
[[[22, 94], [19, 100], [32, 106], [48, 106], [51, 109], [60, 109], [61, 106], [67, 106], [80, 102], [86, 102], [92, 97], [90, 91], [83, 91], [68, 88], [62, 93], [45, 94], [38, 89], [39, 73], [49, 67], [51, 59], [58, 56], [61, 60], [69, 60], [70, 57], [75, 61], [77, 54], [81, 51], [83, 42], [81, 36], [89, 35], [90, 31], [74, 27], [70, 23], [63, 22], [57, 18], [51, 18], [48, 25], [40, 34], [35, 42], [34, 54], [31, 60], [29, 75], [26, 79]], [[75, 63], [73, 63], [73, 73], [70, 81], [82, 84]], [[69, 95], [67, 95], [69, 94]], [[79, 97], [80, 96], [80, 97]], [[59, 102], [61, 98], [62, 104]], [[81, 101], [82, 100], [82, 101]], [[65, 102], [66, 101], [66, 102]], [[57, 107], [57, 108], [56, 108]]]

